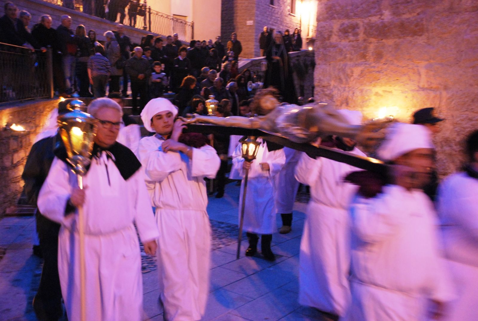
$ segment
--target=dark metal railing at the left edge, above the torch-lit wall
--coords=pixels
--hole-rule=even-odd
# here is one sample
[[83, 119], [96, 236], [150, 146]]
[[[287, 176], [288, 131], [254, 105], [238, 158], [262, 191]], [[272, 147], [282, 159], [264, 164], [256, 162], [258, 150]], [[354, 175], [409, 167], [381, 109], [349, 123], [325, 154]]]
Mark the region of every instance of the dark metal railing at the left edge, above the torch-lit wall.
[[53, 98], [52, 50], [0, 43], [0, 102]]

